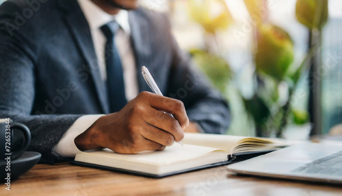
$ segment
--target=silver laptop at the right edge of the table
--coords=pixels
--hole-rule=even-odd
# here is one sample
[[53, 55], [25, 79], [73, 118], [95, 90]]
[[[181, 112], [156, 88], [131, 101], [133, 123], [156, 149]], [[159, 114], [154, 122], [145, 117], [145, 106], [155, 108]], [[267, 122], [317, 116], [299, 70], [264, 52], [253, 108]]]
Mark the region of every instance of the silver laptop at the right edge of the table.
[[342, 184], [342, 143], [304, 143], [228, 166], [228, 171]]

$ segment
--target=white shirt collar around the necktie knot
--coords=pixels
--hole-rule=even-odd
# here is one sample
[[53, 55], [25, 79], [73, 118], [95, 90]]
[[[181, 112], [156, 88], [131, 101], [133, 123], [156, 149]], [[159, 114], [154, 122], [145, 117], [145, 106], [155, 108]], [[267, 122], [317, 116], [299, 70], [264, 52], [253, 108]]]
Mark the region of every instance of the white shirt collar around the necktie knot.
[[130, 34], [129, 18], [127, 10], [120, 10], [118, 14], [111, 15], [103, 11], [90, 0], [77, 0], [79, 6], [86, 16], [90, 29], [99, 29], [110, 21], [116, 21], [125, 33]]

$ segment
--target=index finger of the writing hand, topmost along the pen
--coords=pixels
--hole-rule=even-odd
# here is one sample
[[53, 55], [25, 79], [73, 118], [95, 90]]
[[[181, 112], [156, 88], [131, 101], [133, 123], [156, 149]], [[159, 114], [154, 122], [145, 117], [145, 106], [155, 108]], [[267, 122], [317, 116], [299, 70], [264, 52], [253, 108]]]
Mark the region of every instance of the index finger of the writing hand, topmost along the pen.
[[150, 106], [153, 108], [173, 114], [174, 118], [179, 121], [183, 130], [189, 125], [187, 112], [185, 111], [182, 101], [156, 95], [155, 93], [145, 93], [145, 96], [148, 97], [148, 103], [150, 103]]

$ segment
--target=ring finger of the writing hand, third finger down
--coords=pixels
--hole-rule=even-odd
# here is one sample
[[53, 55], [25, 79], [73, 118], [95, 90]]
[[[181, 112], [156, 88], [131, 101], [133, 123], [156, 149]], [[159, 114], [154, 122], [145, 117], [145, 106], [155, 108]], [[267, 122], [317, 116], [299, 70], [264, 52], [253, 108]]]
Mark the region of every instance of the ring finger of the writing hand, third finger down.
[[174, 136], [172, 134], [160, 130], [153, 125], [147, 125], [146, 129], [144, 129], [140, 134], [142, 134], [144, 138], [164, 146], [170, 146], [174, 143]]

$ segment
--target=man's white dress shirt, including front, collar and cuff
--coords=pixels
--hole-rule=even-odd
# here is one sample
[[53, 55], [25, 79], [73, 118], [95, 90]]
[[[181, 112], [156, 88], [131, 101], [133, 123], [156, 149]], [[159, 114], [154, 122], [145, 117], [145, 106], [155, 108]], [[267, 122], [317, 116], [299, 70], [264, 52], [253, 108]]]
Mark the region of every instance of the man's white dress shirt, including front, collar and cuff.
[[[125, 95], [127, 101], [130, 101], [137, 96], [138, 86], [136, 78], [137, 72], [135, 69], [135, 58], [131, 48], [131, 29], [129, 27], [127, 10], [120, 10], [118, 14], [110, 15], [101, 10], [101, 8], [92, 3], [90, 0], [77, 1], [90, 26], [90, 32], [92, 34], [92, 40], [98, 59], [98, 67], [100, 69], [101, 78], [104, 81], [107, 79], [105, 65], [105, 44], [107, 42], [107, 38], [105, 38], [100, 27], [114, 20], [120, 25], [121, 28], [116, 33], [114, 39], [122, 63]], [[53, 147], [53, 153], [64, 157], [75, 156], [75, 154], [80, 152], [75, 145], [75, 138], [79, 136], [79, 134], [85, 132], [88, 127], [90, 127], [98, 118], [102, 116], [103, 114], [85, 115], [77, 119], [77, 121], [75, 121], [75, 123], [73, 123], [73, 125], [62, 136], [57, 145]]]

